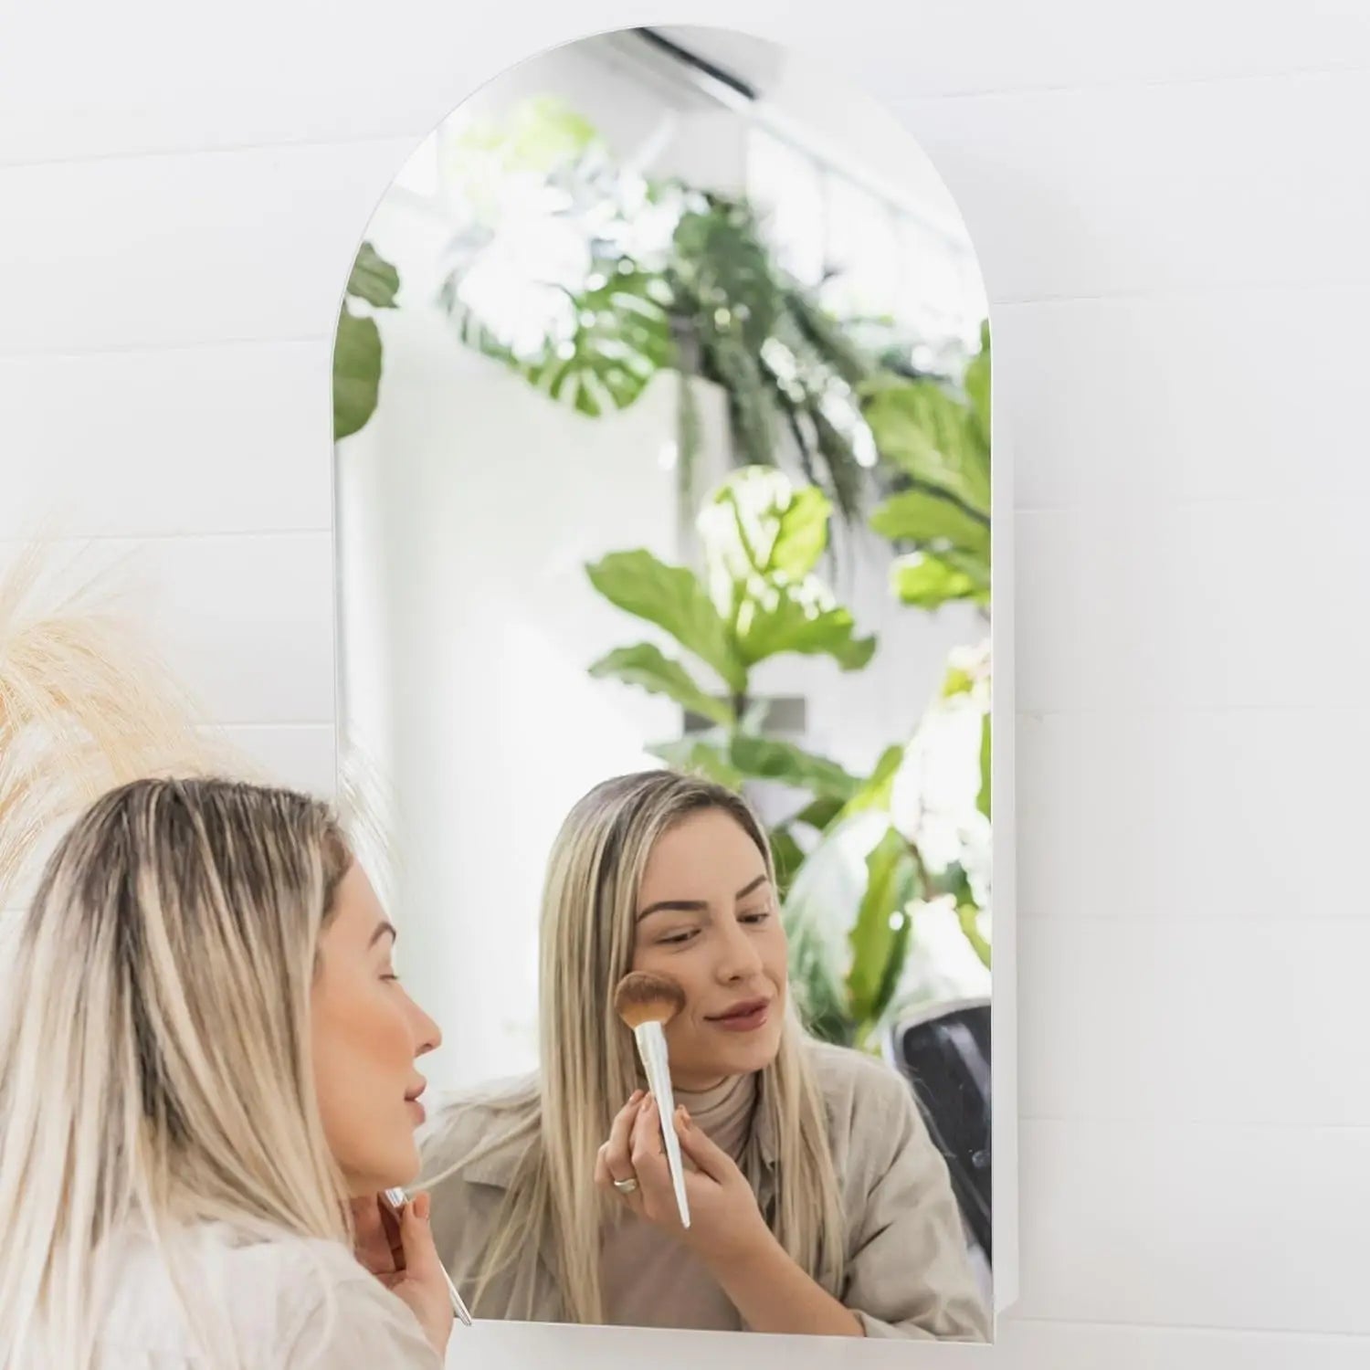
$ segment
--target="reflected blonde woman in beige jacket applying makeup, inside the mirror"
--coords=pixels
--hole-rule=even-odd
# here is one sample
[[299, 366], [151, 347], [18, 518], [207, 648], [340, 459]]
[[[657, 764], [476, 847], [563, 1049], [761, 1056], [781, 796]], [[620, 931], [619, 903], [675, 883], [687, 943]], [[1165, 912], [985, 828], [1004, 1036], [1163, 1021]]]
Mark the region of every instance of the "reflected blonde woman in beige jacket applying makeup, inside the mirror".
[[[667, 974], [677, 1128], [612, 993]], [[547, 875], [536, 1080], [456, 1099], [421, 1133], [444, 1263], [480, 1314], [534, 1321], [985, 1340], [947, 1167], [903, 1081], [807, 1038], [763, 829], [671, 771], [573, 810]]]

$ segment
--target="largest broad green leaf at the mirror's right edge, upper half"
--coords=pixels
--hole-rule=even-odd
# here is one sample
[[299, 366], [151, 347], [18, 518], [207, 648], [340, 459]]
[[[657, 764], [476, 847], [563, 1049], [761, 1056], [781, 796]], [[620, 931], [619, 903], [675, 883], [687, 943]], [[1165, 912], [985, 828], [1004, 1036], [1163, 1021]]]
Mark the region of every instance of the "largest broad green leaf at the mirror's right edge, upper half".
[[882, 456], [989, 515], [989, 448], [969, 403], [933, 381], [885, 381], [869, 390], [864, 414]]

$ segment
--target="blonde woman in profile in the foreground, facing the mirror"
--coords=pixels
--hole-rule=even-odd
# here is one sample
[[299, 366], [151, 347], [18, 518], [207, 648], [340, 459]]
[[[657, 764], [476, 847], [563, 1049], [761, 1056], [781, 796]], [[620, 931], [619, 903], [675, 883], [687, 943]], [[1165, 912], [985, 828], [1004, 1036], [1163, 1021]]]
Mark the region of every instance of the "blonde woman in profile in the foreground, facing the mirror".
[[4, 971], [3, 1370], [437, 1370], [427, 1200], [377, 1200], [438, 1041], [393, 938], [303, 796], [144, 780], [77, 819]]

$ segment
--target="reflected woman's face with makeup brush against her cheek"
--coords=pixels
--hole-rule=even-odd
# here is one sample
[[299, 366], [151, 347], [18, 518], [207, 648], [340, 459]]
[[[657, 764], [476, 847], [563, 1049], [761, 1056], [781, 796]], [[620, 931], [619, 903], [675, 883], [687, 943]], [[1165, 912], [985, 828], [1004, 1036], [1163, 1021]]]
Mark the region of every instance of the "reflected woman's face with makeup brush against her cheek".
[[721, 808], [662, 836], [637, 893], [633, 970], [670, 975], [685, 1008], [666, 1025], [671, 1080], [708, 1089], [775, 1059], [786, 951], [766, 862]]

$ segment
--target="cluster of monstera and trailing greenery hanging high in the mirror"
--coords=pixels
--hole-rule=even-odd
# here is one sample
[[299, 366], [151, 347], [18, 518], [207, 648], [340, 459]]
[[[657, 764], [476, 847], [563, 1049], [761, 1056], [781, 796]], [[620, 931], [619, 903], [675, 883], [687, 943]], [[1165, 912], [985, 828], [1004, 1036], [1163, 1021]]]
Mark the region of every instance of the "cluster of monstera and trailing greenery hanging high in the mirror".
[[[680, 373], [686, 490], [699, 451], [692, 381], [711, 381], [727, 396], [738, 464], [773, 466], [788, 443], [855, 518], [875, 460], [856, 393], [871, 366], [778, 267], [752, 206], [623, 170], [580, 115], [545, 99], [515, 111], [504, 138], [482, 125], [453, 153], [475, 186], [440, 292], [462, 340], [589, 416], [634, 403], [662, 370]], [[529, 147], [538, 155], [511, 151]], [[501, 197], [492, 186], [511, 164], [522, 179]], [[545, 260], [515, 266], [515, 240], [543, 242]]]

